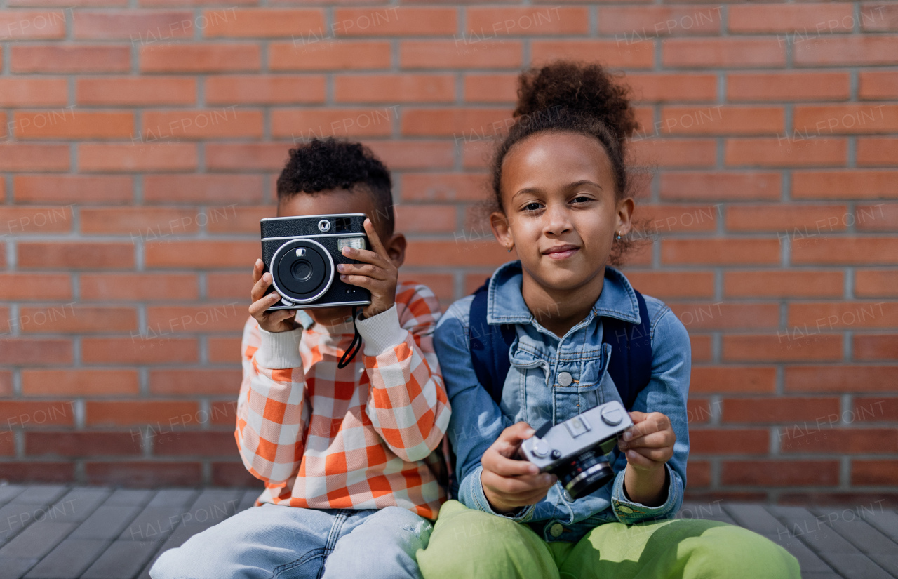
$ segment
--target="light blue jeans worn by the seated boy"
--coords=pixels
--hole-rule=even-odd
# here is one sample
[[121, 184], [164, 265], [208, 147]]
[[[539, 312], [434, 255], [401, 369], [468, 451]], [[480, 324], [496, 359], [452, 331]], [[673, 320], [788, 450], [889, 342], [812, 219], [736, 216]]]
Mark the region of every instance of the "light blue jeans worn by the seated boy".
[[200, 532], [156, 561], [153, 579], [420, 579], [415, 553], [433, 526], [398, 506], [384, 509], [251, 507]]

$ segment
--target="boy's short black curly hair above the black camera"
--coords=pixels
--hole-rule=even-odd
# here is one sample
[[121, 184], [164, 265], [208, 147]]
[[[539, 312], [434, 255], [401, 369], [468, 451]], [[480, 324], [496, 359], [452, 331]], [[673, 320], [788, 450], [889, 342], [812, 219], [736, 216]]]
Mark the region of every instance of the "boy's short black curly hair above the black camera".
[[359, 187], [374, 199], [377, 215], [368, 215], [372, 222], [382, 224], [383, 231], [392, 235], [395, 217], [390, 171], [361, 143], [329, 136], [290, 149], [290, 159], [277, 178], [277, 201], [300, 193]]

